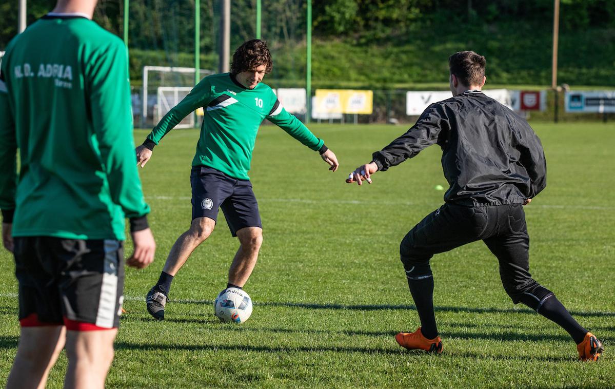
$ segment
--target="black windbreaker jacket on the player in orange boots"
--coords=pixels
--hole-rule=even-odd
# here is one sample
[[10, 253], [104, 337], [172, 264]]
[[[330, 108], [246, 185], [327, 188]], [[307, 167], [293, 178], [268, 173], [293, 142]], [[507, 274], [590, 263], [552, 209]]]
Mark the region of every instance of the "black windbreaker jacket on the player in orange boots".
[[434, 143], [442, 148], [450, 185], [446, 203], [523, 204], [547, 185], [544, 151], [530, 124], [478, 90], [427, 107], [405, 134], [374, 153], [373, 161], [384, 171]]

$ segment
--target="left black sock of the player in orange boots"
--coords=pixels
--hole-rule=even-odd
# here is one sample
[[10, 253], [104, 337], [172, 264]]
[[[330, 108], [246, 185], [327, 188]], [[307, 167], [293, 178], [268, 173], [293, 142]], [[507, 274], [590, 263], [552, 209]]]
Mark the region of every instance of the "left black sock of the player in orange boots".
[[415, 300], [416, 311], [421, 319], [421, 333], [427, 339], [438, 336], [434, 315], [434, 276], [429, 263], [406, 270], [410, 293]]

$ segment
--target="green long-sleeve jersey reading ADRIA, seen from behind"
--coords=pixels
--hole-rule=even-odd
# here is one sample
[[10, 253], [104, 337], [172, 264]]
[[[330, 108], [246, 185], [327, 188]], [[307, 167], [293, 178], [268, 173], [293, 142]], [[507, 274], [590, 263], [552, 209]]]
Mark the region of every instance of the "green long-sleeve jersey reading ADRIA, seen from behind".
[[9, 43], [0, 77], [0, 208], [14, 209], [13, 235], [124, 239], [125, 217], [149, 207], [121, 39], [46, 15]]

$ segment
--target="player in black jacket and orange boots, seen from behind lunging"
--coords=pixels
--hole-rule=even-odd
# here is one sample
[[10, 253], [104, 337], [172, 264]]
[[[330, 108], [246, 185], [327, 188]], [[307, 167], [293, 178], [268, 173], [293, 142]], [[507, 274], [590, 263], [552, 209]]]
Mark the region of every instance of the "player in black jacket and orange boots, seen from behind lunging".
[[346, 180], [371, 183], [370, 175], [378, 170], [398, 165], [434, 143], [442, 148], [442, 168], [450, 184], [445, 204], [412, 228], [400, 245], [421, 327], [395, 339], [409, 349], [442, 351], [429, 260], [480, 239], [498, 257], [502, 284], [512, 301], [568, 331], [580, 359], [596, 360], [603, 351], [601, 343], [529, 272], [530, 238], [523, 206], [546, 186], [541, 142], [525, 119], [481, 92], [485, 57], [459, 52], [451, 55], [449, 65], [453, 97], [427, 107], [410, 130], [373, 153], [373, 161]]

